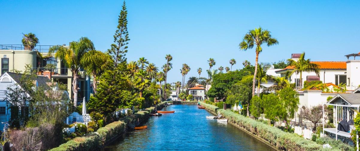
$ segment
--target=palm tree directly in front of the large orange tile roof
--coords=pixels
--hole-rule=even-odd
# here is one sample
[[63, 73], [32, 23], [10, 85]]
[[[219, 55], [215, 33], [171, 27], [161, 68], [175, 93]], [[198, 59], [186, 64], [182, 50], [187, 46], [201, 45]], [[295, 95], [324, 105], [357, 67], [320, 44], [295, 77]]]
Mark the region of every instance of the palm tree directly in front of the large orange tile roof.
[[314, 71], [316, 75], [319, 76], [319, 65], [311, 63], [310, 59], [305, 59], [305, 52], [300, 55], [300, 58], [297, 61], [294, 61], [293, 59], [288, 59], [288, 63], [294, 68], [294, 70], [291, 71], [291, 74], [293, 74], [294, 72], [296, 74], [300, 73], [300, 88], [302, 88], [302, 72]]

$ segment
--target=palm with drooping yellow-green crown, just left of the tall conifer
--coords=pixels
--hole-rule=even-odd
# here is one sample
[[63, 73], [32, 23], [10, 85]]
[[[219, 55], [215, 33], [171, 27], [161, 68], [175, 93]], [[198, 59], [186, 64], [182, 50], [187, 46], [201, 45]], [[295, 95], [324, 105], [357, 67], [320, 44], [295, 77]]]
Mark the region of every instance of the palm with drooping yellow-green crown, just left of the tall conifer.
[[93, 76], [93, 91], [96, 94], [96, 86], [98, 84], [98, 76], [104, 71], [108, 70], [114, 64], [113, 59], [109, 54], [98, 50], [90, 50], [84, 54], [80, 63], [84, 67], [89, 76]]

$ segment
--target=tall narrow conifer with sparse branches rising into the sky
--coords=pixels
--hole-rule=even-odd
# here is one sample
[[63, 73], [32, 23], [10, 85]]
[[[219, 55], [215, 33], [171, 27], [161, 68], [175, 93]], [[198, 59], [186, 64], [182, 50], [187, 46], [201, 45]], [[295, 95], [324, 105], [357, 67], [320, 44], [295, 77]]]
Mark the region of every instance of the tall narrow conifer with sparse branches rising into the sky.
[[127, 32], [127, 10], [125, 1], [122, 4], [122, 10], [119, 15], [117, 30], [114, 35], [114, 44], [111, 44], [111, 49], [108, 49], [109, 54], [112, 55], [115, 68], [121, 62], [125, 62], [125, 53], [127, 53], [127, 41], [129, 41], [129, 33]]

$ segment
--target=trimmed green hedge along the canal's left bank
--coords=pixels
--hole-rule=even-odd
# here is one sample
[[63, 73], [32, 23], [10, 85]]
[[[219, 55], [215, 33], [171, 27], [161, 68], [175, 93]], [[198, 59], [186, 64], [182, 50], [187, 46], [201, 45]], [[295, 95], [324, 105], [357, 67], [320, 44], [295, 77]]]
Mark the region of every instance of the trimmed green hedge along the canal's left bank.
[[[165, 101], [157, 104], [155, 107], [160, 110], [165, 106]], [[134, 121], [143, 120], [149, 116], [155, 107], [145, 108], [144, 111], [138, 111], [133, 115], [121, 118], [102, 128], [99, 128], [95, 133], [88, 133], [84, 137], [76, 137], [59, 147], [53, 148], [50, 151], [93, 151], [100, 150], [103, 146], [110, 143], [119, 134], [122, 134], [129, 123]]]

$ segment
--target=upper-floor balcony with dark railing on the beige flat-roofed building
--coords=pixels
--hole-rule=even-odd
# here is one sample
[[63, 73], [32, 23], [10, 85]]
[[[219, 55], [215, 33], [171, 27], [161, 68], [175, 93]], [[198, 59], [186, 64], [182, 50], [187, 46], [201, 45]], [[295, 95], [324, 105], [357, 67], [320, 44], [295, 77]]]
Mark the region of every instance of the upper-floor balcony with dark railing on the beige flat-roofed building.
[[[44, 71], [50, 71], [51, 76], [54, 77], [65, 77], [72, 76], [72, 73], [69, 68], [32, 68], [31, 71], [36, 73], [36, 75], [44, 75]], [[85, 71], [79, 71], [79, 78], [85, 78]]]

